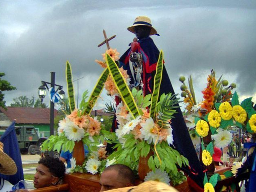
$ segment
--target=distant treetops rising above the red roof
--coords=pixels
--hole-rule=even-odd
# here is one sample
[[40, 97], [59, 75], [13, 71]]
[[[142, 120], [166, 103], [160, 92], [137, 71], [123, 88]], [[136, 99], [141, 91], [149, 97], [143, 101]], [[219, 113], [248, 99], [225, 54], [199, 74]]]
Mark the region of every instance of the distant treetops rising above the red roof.
[[35, 98], [32, 96], [29, 99], [27, 96], [19, 96], [13, 99], [14, 103], [11, 103], [11, 107], [34, 107], [34, 108], [47, 108], [48, 106], [44, 103], [41, 103], [40, 99]]

